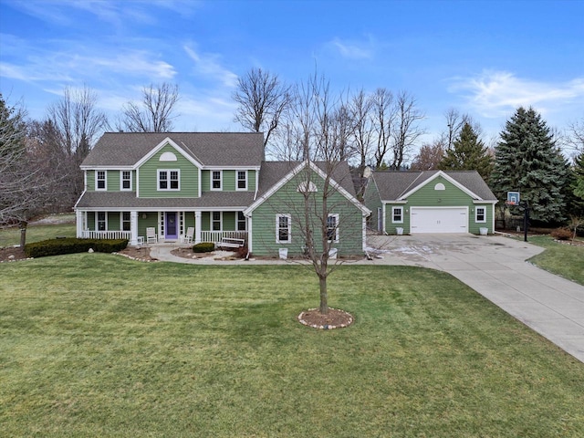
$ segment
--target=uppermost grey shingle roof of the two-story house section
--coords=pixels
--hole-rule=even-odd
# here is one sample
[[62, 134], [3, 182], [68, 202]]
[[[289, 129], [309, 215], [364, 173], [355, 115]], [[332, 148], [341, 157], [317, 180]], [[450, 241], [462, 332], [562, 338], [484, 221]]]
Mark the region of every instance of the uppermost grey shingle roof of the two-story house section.
[[106, 132], [81, 166], [133, 166], [166, 139], [203, 166], [257, 167], [264, 159], [261, 132]]

